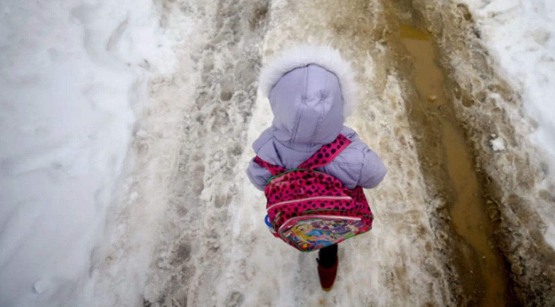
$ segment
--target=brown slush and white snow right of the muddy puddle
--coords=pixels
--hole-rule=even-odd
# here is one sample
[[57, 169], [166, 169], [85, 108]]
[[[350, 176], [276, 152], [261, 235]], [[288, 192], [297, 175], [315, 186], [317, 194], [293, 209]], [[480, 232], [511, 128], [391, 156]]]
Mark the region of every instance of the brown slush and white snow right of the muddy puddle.
[[[430, 7], [413, 1], [448, 67], [457, 117], [472, 145], [497, 247], [521, 301], [552, 305], [555, 182], [547, 103], [553, 89], [553, 4], [468, 1]], [[458, 11], [454, 18], [438, 12]], [[458, 16], [457, 16], [458, 15]], [[550, 33], [543, 41], [534, 33]], [[513, 43], [514, 42], [514, 43]], [[538, 82], [536, 78], [541, 79]], [[542, 110], [539, 115], [534, 110]], [[494, 136], [492, 136], [494, 135]], [[505, 150], [490, 141], [503, 139]]]

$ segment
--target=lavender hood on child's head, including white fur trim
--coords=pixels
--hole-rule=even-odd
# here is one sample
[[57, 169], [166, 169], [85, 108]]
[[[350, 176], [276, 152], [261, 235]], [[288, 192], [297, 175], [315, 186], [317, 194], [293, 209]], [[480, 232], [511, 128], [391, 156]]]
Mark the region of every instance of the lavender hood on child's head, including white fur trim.
[[332, 142], [354, 109], [351, 67], [329, 47], [285, 52], [263, 68], [260, 90], [274, 113], [274, 136], [299, 151]]

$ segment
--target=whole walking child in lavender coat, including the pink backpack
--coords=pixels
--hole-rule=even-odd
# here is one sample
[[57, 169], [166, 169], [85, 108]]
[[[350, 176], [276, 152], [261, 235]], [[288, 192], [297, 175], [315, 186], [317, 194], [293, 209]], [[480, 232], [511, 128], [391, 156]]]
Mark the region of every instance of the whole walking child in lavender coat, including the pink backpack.
[[274, 235], [302, 251], [319, 249], [320, 284], [330, 290], [337, 243], [371, 227], [361, 188], [386, 174], [344, 125], [355, 108], [354, 73], [335, 49], [297, 46], [262, 69], [259, 87], [274, 120], [253, 143], [248, 177], [266, 192]]

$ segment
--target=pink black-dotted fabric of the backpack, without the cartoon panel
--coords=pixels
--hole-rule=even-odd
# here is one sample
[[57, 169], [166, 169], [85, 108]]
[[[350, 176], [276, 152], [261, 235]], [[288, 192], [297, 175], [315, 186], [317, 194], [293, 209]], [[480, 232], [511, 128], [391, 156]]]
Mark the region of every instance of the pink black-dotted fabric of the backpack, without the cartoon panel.
[[[334, 142], [322, 146], [295, 170], [270, 164], [259, 157], [254, 159], [255, 163], [265, 167], [275, 176], [266, 185], [265, 194], [268, 200], [268, 216], [276, 230], [286, 222], [289, 225], [297, 219], [317, 217], [360, 218], [367, 226], [360, 229], [360, 233], [370, 230], [374, 216], [362, 188], [347, 189], [339, 179], [314, 170], [330, 163], [350, 143], [349, 139], [339, 135]], [[300, 249], [291, 241], [281, 239]]]

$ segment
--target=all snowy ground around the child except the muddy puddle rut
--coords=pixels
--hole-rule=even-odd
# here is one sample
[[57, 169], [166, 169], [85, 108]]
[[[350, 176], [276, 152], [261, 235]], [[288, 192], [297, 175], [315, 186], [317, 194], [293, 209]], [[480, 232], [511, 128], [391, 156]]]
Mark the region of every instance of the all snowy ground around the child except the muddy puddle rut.
[[[548, 304], [555, 7], [465, 2], [402, 3], [463, 93], [449, 85], [518, 297]], [[461, 304], [387, 5], [0, 3], [0, 306]], [[388, 168], [367, 191], [374, 229], [342, 244], [330, 293], [315, 254], [268, 233], [264, 197], [244, 173], [271, 123], [256, 72], [295, 41], [331, 43], [357, 63], [348, 124]]]

